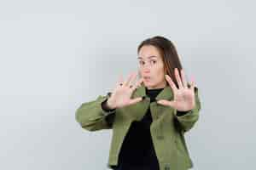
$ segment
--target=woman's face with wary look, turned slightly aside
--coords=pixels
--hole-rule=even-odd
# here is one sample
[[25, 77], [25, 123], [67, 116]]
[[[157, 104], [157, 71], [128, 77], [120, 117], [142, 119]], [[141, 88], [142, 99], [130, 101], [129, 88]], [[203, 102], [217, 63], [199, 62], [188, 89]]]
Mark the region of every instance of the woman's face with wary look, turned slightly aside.
[[160, 52], [152, 45], [144, 45], [138, 53], [139, 73], [148, 89], [165, 88], [164, 62]]

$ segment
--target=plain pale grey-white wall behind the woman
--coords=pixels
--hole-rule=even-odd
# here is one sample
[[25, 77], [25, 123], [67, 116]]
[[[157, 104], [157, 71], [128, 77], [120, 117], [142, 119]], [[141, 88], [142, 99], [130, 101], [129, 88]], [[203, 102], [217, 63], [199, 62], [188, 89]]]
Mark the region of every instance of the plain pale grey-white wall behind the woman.
[[1, 1], [0, 168], [108, 169], [111, 130], [75, 122], [83, 102], [137, 71], [137, 45], [177, 47], [200, 90], [186, 135], [195, 170], [255, 169], [253, 1]]

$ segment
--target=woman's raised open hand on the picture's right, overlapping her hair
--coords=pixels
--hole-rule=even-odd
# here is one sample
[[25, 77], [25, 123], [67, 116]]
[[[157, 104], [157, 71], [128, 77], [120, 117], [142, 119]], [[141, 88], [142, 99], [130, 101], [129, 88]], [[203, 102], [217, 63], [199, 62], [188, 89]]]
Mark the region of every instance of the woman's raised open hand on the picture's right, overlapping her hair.
[[173, 100], [160, 99], [157, 101], [160, 105], [171, 106], [177, 111], [190, 111], [195, 107], [195, 82], [191, 81], [191, 86], [185, 80], [184, 71], [181, 70], [181, 77], [178, 74], [177, 68], [174, 69], [178, 87], [172, 81], [172, 78], [166, 75], [166, 81], [170, 84], [173, 91]]

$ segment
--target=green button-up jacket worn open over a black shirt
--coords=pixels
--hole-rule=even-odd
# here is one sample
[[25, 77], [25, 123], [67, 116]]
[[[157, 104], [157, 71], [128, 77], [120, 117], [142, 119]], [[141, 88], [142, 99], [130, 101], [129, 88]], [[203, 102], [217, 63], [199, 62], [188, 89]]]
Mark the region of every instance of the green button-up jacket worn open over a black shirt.
[[[108, 167], [111, 168], [118, 163], [119, 151], [131, 122], [141, 120], [150, 107], [153, 119], [150, 132], [160, 170], [186, 170], [193, 167], [184, 133], [188, 132], [199, 118], [201, 103], [198, 88], [195, 87], [195, 108], [183, 116], [177, 116], [177, 110], [172, 107], [157, 104], [155, 101], [150, 103], [150, 98], [145, 92], [144, 85], [140, 86], [131, 98], [145, 96], [145, 99], [135, 105], [117, 108], [112, 113], [104, 111], [101, 105], [109, 98], [109, 93], [99, 95], [95, 100], [79, 106], [76, 121], [89, 131], [113, 129], [108, 156]], [[172, 88], [166, 86], [155, 99], [173, 99]]]

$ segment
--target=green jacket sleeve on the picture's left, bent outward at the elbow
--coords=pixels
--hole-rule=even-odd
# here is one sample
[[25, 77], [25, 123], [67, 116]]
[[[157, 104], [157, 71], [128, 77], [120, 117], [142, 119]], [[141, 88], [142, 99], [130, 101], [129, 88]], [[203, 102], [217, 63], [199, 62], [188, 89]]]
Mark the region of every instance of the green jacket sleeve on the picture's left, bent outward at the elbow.
[[75, 112], [75, 119], [82, 128], [88, 131], [112, 128], [116, 110], [106, 111], [102, 108], [102, 103], [109, 97], [110, 93], [105, 96], [99, 95], [95, 100], [79, 106]]

